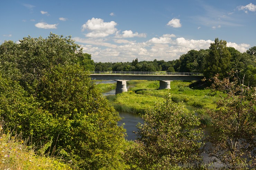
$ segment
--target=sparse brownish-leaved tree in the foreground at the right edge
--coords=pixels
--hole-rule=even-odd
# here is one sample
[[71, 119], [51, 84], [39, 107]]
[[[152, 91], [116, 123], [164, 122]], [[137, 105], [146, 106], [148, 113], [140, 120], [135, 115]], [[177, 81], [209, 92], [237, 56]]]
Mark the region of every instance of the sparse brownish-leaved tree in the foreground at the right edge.
[[209, 110], [214, 133], [210, 142], [214, 149], [208, 153], [213, 162], [225, 168], [255, 168], [256, 134], [256, 87], [245, 86], [232, 72], [228, 78], [220, 80], [215, 76], [212, 88], [227, 94], [217, 102], [215, 110]]

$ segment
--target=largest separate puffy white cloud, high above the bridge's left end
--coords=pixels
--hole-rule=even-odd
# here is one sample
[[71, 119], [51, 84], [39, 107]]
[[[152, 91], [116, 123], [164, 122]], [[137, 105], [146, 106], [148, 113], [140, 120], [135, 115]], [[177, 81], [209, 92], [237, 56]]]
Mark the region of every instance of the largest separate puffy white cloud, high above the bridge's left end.
[[117, 31], [116, 25], [115, 21], [104, 22], [103, 19], [92, 18], [82, 25], [82, 32], [88, 30], [86, 37], [107, 37]]

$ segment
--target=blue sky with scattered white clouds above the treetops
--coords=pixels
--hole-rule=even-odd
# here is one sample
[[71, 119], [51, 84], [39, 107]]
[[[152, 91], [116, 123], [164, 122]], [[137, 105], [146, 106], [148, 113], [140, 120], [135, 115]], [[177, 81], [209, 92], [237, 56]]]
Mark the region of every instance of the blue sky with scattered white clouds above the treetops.
[[179, 59], [215, 38], [256, 46], [256, 0], [3, 0], [0, 44], [72, 36], [95, 62]]

